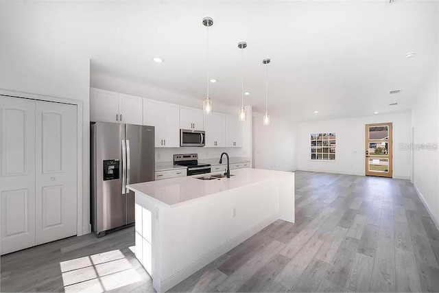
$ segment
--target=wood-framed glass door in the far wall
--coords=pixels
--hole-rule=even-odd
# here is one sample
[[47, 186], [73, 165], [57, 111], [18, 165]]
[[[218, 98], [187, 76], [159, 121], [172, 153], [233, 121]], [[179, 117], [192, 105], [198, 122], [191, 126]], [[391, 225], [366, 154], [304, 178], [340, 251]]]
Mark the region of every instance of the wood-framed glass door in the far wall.
[[392, 123], [366, 124], [366, 175], [392, 177]]

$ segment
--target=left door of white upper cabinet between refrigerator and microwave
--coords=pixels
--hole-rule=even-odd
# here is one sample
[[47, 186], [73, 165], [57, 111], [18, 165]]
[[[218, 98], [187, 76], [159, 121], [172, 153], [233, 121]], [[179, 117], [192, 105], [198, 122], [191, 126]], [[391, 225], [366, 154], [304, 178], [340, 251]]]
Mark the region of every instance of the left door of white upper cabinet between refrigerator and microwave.
[[163, 118], [166, 115], [161, 112], [163, 109], [161, 104], [150, 101], [149, 99], [143, 99], [143, 125], [154, 126], [154, 140], [156, 148], [162, 148], [163, 137], [165, 132], [165, 125], [163, 124]]

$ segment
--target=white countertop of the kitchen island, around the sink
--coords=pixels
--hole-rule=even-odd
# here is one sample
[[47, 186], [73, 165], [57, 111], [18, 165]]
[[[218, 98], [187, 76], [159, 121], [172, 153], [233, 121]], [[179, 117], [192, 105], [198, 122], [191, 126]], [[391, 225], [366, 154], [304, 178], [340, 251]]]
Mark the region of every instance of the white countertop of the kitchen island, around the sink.
[[[219, 174], [218, 172], [213, 174]], [[260, 183], [280, 176], [293, 176], [292, 172], [272, 171], [265, 169], [235, 169], [230, 172], [235, 175], [218, 180], [200, 180], [195, 177], [209, 174], [169, 178], [145, 183], [128, 185], [128, 189], [152, 198], [165, 206], [177, 206], [189, 200], [195, 200], [222, 191]], [[136, 196], [139, 196], [136, 194]], [[140, 195], [141, 196], [141, 195]]]

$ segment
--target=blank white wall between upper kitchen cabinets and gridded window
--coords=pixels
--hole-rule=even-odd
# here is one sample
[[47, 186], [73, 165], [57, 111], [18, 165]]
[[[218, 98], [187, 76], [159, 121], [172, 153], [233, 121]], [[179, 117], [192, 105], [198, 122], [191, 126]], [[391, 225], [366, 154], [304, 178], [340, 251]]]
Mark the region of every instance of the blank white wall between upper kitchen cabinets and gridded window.
[[296, 164], [296, 132], [292, 122], [270, 117], [263, 125], [263, 114], [253, 113], [253, 167], [293, 171]]

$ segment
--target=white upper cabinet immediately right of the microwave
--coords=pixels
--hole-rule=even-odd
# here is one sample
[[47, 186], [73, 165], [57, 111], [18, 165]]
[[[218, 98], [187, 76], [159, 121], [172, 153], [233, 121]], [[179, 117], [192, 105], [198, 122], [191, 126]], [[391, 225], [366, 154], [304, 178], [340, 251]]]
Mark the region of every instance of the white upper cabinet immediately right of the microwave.
[[224, 147], [226, 145], [226, 115], [212, 113], [204, 116], [206, 147]]

